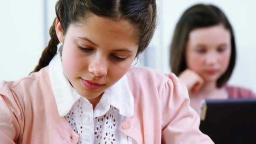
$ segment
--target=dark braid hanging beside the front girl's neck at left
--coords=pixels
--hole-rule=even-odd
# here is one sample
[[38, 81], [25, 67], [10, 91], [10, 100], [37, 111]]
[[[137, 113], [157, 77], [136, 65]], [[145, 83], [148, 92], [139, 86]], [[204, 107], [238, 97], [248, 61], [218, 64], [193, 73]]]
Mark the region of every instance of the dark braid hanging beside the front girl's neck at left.
[[[57, 45], [59, 44], [59, 39], [56, 35], [55, 24], [56, 24], [56, 18], [54, 19], [53, 25], [51, 26], [51, 28], [49, 30], [51, 39], [48, 43], [48, 46], [46, 46], [46, 48], [43, 50], [42, 56], [39, 59], [38, 65], [33, 70], [33, 72], [38, 72], [40, 69], [49, 65], [49, 62], [53, 59], [53, 57], [57, 53]], [[31, 73], [33, 73], [33, 72], [31, 72]]]

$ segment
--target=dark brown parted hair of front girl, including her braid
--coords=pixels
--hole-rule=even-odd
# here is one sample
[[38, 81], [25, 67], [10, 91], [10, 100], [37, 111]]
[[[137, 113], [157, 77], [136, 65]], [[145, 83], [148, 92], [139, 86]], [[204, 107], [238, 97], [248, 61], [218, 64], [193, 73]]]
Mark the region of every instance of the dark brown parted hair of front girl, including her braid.
[[[156, 26], [155, 0], [59, 0], [55, 7], [56, 16], [66, 34], [70, 24], [86, 20], [90, 13], [104, 16], [112, 20], [128, 20], [138, 29], [138, 51], [143, 52], [154, 34]], [[33, 72], [37, 72], [49, 65], [56, 55], [59, 40], [55, 31], [56, 19], [49, 30], [51, 39], [43, 50], [38, 65]]]

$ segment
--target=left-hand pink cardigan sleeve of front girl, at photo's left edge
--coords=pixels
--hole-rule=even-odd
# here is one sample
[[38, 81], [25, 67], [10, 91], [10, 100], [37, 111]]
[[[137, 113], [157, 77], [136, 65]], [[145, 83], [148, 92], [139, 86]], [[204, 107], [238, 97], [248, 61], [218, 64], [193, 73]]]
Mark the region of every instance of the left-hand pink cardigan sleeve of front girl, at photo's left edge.
[[0, 141], [15, 144], [23, 128], [23, 114], [15, 93], [7, 82], [0, 82]]

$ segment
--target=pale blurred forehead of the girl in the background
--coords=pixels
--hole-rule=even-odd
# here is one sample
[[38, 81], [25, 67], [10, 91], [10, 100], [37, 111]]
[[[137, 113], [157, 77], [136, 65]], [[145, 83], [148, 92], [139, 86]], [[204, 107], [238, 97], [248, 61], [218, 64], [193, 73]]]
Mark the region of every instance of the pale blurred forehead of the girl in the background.
[[192, 30], [189, 34], [190, 44], [220, 44], [230, 43], [230, 40], [230, 30], [226, 29], [223, 25], [197, 28]]

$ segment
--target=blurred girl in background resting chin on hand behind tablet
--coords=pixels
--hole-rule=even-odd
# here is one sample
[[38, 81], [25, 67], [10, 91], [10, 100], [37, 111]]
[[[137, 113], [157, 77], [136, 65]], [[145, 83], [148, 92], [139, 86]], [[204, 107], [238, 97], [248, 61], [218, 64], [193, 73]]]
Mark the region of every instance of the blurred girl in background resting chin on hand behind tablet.
[[188, 8], [174, 30], [171, 70], [185, 83], [190, 105], [199, 113], [203, 99], [256, 98], [252, 91], [227, 85], [236, 63], [233, 28], [218, 7]]

